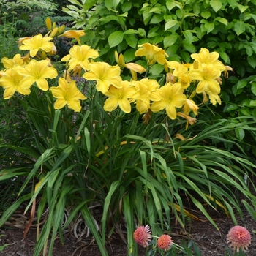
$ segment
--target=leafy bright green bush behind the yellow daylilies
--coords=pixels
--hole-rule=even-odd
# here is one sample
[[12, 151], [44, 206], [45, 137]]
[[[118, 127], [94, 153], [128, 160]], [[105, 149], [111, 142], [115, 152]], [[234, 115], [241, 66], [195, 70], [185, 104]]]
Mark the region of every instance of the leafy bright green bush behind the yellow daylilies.
[[[233, 67], [230, 78], [223, 80], [224, 104], [216, 110], [217, 115], [256, 115], [255, 0], [69, 2], [63, 10], [75, 29], [85, 30], [83, 42], [100, 49], [102, 61], [111, 64], [116, 50], [124, 54], [124, 61], [138, 61], [135, 50], [145, 42], [159, 45], [170, 59], [180, 62], [189, 62], [190, 53], [202, 47], [217, 51], [222, 61]], [[241, 128], [233, 138], [255, 157], [255, 133]], [[225, 146], [229, 149], [232, 144]]]

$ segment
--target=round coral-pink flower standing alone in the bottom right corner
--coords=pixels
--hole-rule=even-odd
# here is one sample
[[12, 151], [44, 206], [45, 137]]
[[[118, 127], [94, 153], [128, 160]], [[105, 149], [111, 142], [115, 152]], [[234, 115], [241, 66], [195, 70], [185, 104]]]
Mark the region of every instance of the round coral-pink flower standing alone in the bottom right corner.
[[227, 243], [231, 243], [230, 247], [233, 246], [237, 252], [239, 252], [239, 248], [244, 251], [251, 244], [251, 234], [245, 227], [232, 227], [227, 234]]

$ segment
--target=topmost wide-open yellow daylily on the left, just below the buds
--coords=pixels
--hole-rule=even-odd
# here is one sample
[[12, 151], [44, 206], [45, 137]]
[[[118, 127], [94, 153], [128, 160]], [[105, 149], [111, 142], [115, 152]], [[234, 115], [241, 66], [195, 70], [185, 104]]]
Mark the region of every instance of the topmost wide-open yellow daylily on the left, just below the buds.
[[31, 57], [36, 56], [39, 50], [44, 50], [45, 53], [48, 53], [53, 48], [49, 42], [52, 39], [52, 37], [42, 37], [42, 34], [37, 34], [31, 39], [24, 39], [22, 41], [23, 45], [20, 45], [20, 50], [29, 50]]

